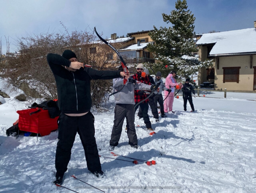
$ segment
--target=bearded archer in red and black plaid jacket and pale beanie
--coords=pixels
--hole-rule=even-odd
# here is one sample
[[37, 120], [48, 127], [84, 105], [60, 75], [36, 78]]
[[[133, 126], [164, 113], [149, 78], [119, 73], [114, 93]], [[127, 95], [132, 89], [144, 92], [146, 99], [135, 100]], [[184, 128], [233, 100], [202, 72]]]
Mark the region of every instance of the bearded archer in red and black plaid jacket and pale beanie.
[[[141, 73], [143, 71], [144, 71], [143, 64], [138, 64], [138, 66], [136, 68], [137, 74], [134, 74], [133, 76], [131, 76], [131, 78], [133, 78], [137, 82], [142, 82], [144, 84], [151, 85], [148, 76], [141, 77]], [[138, 102], [144, 100], [146, 97], [147, 97], [147, 95], [144, 93], [144, 91], [134, 90], [135, 105]], [[140, 109], [142, 110], [143, 120], [144, 120], [144, 123], [146, 124], [147, 129], [150, 130], [150, 131], [153, 131], [152, 126], [151, 126], [151, 122], [150, 122], [150, 119], [149, 119], [149, 116], [148, 116], [148, 99], [146, 99], [145, 101], [143, 101], [142, 103], [137, 105], [136, 108], [134, 109], [135, 112], [136, 112], [136, 110], [138, 109], [139, 106], [140, 106]]]

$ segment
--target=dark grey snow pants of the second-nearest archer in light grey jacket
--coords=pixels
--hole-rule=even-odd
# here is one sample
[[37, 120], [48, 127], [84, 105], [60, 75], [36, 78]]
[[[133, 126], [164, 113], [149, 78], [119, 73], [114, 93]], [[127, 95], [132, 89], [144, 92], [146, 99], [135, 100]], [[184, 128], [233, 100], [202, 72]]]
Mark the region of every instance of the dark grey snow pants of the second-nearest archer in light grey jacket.
[[115, 118], [112, 129], [111, 139], [109, 144], [117, 146], [122, 133], [122, 126], [124, 124], [124, 118], [126, 117], [127, 135], [129, 139], [129, 145], [138, 145], [138, 139], [136, 135], [134, 119], [135, 111], [134, 105], [130, 104], [116, 104]]

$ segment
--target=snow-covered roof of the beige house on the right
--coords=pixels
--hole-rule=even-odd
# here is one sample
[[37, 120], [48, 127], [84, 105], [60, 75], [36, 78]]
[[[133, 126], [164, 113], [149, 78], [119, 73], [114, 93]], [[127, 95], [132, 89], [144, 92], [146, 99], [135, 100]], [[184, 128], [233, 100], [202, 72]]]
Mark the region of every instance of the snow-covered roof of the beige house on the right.
[[227, 32], [203, 34], [196, 45], [214, 44], [210, 56], [256, 53], [256, 29], [248, 28]]

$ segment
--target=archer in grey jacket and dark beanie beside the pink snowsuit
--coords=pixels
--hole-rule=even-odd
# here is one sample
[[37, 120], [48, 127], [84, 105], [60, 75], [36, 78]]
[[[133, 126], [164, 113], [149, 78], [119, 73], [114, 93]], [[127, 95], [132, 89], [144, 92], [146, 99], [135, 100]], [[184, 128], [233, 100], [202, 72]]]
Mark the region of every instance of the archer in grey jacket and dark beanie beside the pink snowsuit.
[[157, 102], [160, 105], [161, 117], [167, 117], [166, 114], [164, 113], [164, 99], [162, 96], [162, 91], [167, 90], [168, 92], [170, 92], [171, 90], [164, 86], [164, 82], [162, 81], [161, 77], [162, 77], [161, 72], [157, 72], [156, 73], [156, 79], [157, 79], [156, 84], [158, 84], [159, 92], [157, 90], [154, 92], [154, 94], [155, 94], [154, 102], [156, 104], [156, 107], [157, 107]]

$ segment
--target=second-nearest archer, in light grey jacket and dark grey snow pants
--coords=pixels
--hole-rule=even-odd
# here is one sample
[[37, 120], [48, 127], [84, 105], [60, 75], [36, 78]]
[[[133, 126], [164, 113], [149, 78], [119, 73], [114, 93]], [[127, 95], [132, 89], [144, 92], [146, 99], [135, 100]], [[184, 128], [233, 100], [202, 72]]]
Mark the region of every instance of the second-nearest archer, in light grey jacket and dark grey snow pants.
[[[119, 67], [121, 72], [124, 71], [122, 66]], [[128, 75], [128, 77], [130, 74]], [[124, 86], [123, 78], [116, 78], [113, 80], [113, 88], [115, 90], [120, 90], [123, 86], [124, 88], [116, 93], [115, 95], [115, 115], [114, 115], [114, 125], [112, 129], [111, 139], [109, 141], [109, 151], [113, 151], [118, 145], [119, 139], [122, 133], [122, 126], [124, 123], [124, 118], [126, 118], [127, 123], [127, 135], [129, 139], [129, 145], [134, 148], [138, 148], [138, 139], [136, 135], [134, 119], [134, 90], [152, 90], [155, 85], [146, 85], [143, 83], [136, 83], [136, 80], [129, 78]]]

